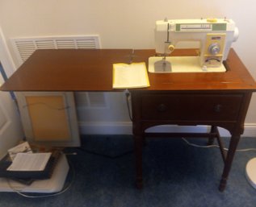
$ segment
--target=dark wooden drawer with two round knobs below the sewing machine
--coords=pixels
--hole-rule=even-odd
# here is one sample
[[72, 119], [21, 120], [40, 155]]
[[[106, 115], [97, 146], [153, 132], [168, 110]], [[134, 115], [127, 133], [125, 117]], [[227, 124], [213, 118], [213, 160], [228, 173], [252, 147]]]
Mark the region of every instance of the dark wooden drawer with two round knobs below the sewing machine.
[[150, 94], [141, 96], [141, 118], [177, 121], [236, 121], [242, 94]]

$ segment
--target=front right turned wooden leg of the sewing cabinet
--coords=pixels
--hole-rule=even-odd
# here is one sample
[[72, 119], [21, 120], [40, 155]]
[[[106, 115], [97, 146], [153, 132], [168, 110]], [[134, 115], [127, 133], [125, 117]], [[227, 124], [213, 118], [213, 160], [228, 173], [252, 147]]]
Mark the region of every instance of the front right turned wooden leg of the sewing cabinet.
[[227, 154], [227, 157], [225, 159], [225, 166], [222, 172], [221, 180], [220, 180], [220, 186], [219, 190], [222, 192], [225, 190], [227, 180], [229, 177], [229, 171], [232, 166], [233, 162], [233, 156], [235, 155], [237, 144], [239, 143], [240, 135], [232, 135], [229, 143], [229, 151]]

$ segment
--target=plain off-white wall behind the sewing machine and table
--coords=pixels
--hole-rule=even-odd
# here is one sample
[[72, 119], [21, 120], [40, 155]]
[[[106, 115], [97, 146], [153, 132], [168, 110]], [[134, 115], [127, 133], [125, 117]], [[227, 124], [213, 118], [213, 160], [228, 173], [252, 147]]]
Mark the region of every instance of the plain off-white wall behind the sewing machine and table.
[[[157, 19], [200, 17], [237, 23], [240, 36], [233, 48], [256, 79], [253, 0], [0, 0], [0, 25], [9, 47], [9, 39], [19, 36], [99, 34], [102, 48], [153, 48]], [[250, 128], [256, 128], [255, 106], [254, 95], [246, 118]]]

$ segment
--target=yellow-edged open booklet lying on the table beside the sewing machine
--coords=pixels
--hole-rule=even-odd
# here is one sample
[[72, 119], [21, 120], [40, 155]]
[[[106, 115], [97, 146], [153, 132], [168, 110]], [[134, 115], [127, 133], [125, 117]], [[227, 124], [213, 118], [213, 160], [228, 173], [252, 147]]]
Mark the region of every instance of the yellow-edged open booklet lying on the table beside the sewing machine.
[[149, 87], [145, 63], [113, 64], [113, 88], [132, 89]]

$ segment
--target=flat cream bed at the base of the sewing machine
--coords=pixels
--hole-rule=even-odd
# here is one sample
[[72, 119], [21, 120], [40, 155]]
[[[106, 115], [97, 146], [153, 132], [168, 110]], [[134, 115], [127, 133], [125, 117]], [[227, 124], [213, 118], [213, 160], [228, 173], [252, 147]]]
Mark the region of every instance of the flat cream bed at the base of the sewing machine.
[[199, 56], [168, 56], [166, 57], [166, 61], [170, 62], [171, 70], [155, 71], [154, 64], [161, 60], [162, 56], [149, 57], [149, 72], [226, 72], [226, 68], [223, 64], [217, 68], [202, 68], [199, 65]]

